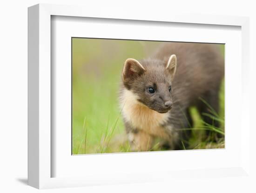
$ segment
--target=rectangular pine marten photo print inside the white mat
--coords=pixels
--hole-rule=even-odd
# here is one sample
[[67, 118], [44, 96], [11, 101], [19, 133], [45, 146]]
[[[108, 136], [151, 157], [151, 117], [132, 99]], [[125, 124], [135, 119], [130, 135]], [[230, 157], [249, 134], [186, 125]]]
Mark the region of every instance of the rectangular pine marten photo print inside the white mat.
[[72, 154], [225, 148], [224, 44], [71, 41]]

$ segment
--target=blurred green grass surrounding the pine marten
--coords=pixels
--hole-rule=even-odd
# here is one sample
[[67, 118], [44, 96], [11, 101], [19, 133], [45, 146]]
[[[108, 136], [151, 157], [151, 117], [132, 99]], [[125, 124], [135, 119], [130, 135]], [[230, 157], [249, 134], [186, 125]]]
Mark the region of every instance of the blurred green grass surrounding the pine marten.
[[[145, 58], [158, 42], [73, 39], [73, 128], [72, 153], [129, 152], [118, 106], [121, 70], [127, 58]], [[224, 53], [224, 46], [221, 46]], [[221, 110], [215, 120], [220, 128], [202, 127], [201, 117], [191, 108], [195, 122], [189, 149], [223, 148], [224, 139], [212, 142], [224, 131], [224, 81], [220, 90]], [[213, 130], [205, 136], [205, 129]], [[158, 143], [152, 150], [161, 150]]]

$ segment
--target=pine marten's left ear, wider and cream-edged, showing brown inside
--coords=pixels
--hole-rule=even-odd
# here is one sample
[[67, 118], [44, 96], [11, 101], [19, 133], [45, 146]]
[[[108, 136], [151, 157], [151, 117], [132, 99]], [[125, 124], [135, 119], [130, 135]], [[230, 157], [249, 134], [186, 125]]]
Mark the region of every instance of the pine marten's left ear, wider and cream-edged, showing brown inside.
[[123, 67], [123, 79], [134, 78], [143, 74], [145, 68], [135, 59], [128, 58]]

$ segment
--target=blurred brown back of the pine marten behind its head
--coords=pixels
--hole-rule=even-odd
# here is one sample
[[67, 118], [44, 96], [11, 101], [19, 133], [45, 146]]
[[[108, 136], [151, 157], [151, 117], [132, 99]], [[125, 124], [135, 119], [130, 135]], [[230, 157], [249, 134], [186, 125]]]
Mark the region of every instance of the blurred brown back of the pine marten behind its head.
[[220, 45], [202, 43], [166, 43], [152, 56], [164, 59], [177, 57], [173, 81], [173, 97], [185, 106], [195, 105], [208, 92], [218, 92], [224, 74]]

